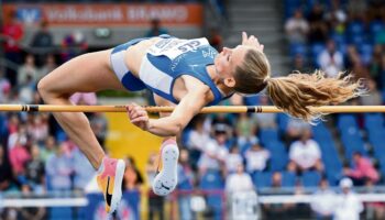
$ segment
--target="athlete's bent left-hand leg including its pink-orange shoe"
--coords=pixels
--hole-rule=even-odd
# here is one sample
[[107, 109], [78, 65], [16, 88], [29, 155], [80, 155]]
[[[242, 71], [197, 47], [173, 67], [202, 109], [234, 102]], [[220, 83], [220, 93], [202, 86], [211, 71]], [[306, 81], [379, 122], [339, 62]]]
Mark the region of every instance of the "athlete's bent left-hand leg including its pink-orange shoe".
[[[38, 91], [46, 103], [72, 105], [69, 97], [75, 92], [123, 89], [109, 62], [110, 51], [78, 56], [45, 76], [38, 82]], [[94, 168], [99, 169], [97, 182], [105, 195], [106, 211], [114, 211], [122, 196], [124, 162], [105, 156], [84, 113], [56, 112], [54, 117]]]

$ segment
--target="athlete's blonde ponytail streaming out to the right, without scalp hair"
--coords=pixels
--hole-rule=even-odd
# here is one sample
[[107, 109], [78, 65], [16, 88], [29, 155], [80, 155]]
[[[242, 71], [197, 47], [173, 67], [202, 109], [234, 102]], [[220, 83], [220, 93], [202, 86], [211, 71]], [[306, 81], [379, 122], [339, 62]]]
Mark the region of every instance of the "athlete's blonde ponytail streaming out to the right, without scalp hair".
[[361, 79], [353, 81], [342, 74], [327, 78], [321, 70], [311, 75], [296, 72], [287, 77], [266, 78], [266, 91], [277, 108], [308, 122], [323, 116], [309, 107], [341, 103], [365, 92]]

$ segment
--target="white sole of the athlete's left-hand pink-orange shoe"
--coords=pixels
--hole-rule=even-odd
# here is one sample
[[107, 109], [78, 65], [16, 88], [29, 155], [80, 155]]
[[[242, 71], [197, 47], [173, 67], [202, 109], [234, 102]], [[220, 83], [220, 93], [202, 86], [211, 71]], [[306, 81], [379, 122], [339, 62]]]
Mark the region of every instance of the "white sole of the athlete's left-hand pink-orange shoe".
[[124, 176], [125, 163], [123, 160], [118, 160], [117, 170], [116, 170], [116, 180], [113, 184], [113, 194], [111, 198], [111, 208], [109, 213], [112, 213], [117, 210], [120, 200], [122, 199], [122, 182]]

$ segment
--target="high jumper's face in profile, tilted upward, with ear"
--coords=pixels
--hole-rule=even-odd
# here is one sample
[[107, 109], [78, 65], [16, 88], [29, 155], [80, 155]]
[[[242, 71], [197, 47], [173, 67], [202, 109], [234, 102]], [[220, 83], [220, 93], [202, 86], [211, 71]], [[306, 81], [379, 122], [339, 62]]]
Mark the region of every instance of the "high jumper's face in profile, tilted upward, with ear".
[[223, 47], [222, 52], [216, 57], [217, 73], [227, 86], [233, 87], [235, 85], [233, 80], [235, 68], [242, 65], [243, 58], [250, 48], [252, 47], [244, 45], [238, 45], [234, 48]]

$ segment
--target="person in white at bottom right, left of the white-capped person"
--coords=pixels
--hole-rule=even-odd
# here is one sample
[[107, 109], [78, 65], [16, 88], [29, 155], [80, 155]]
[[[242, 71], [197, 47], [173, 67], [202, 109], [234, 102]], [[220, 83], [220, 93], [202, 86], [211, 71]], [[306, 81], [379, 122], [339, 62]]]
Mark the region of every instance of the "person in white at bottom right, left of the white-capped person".
[[337, 195], [329, 188], [327, 178], [322, 178], [319, 183], [318, 190], [312, 196], [310, 204], [311, 210], [315, 212], [317, 220], [331, 220], [334, 213]]

